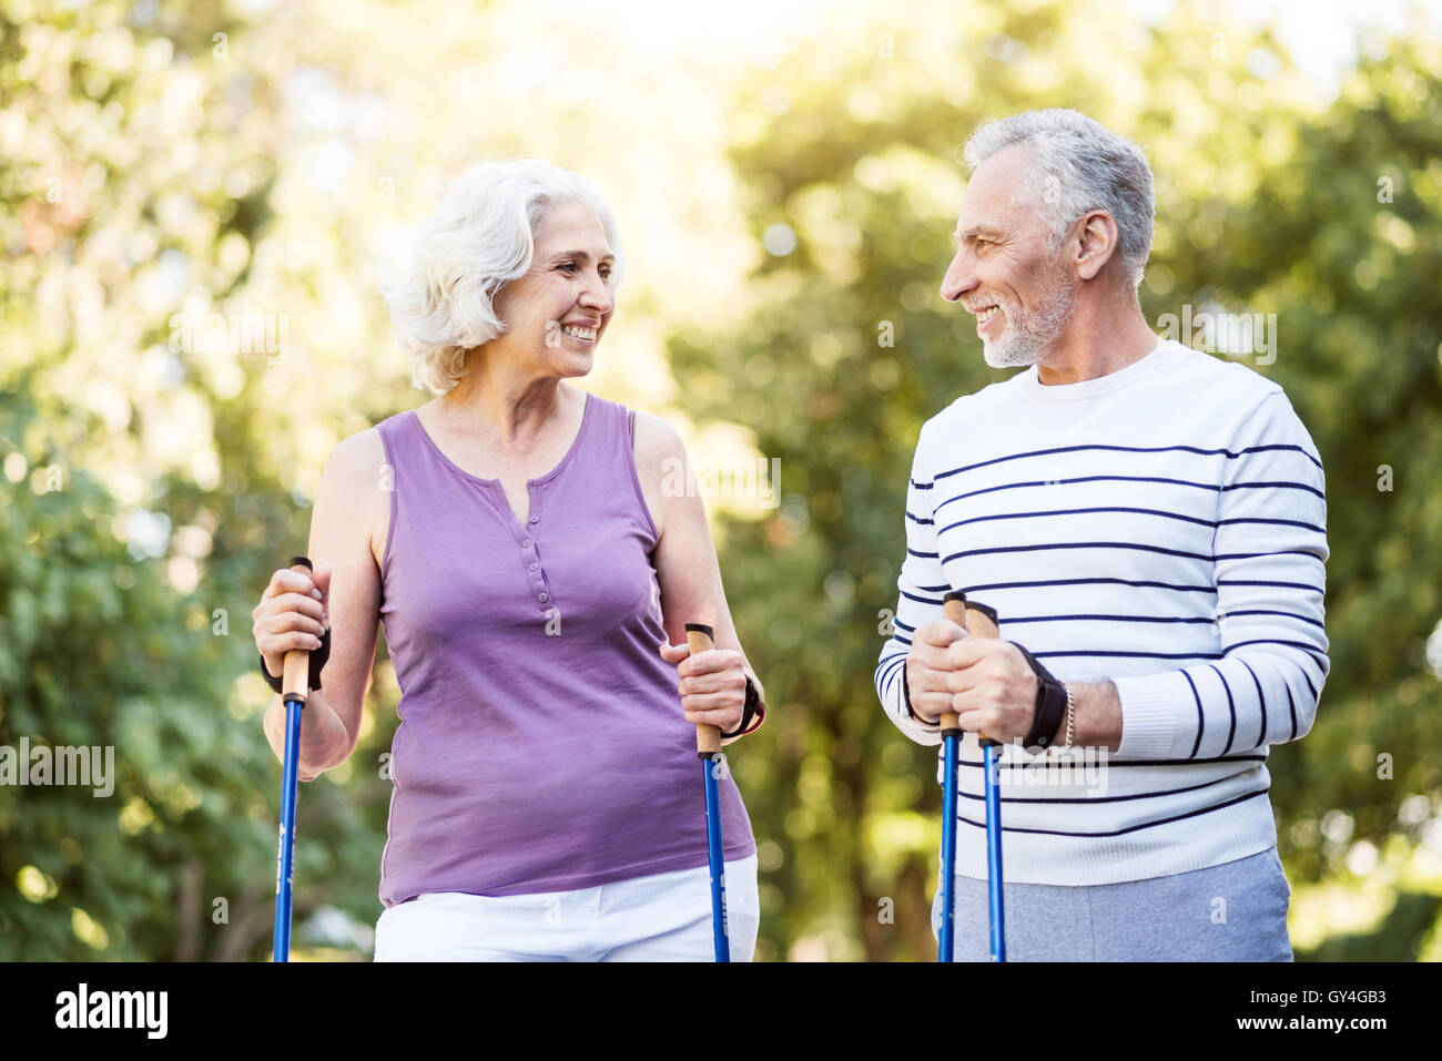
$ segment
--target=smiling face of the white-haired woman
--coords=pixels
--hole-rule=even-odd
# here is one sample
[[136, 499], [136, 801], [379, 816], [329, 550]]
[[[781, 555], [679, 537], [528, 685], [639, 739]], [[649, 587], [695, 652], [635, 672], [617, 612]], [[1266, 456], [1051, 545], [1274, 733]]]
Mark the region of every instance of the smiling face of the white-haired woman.
[[559, 376], [584, 376], [616, 308], [616, 255], [593, 210], [559, 203], [535, 232], [531, 268], [496, 296], [506, 332], [492, 340]]

